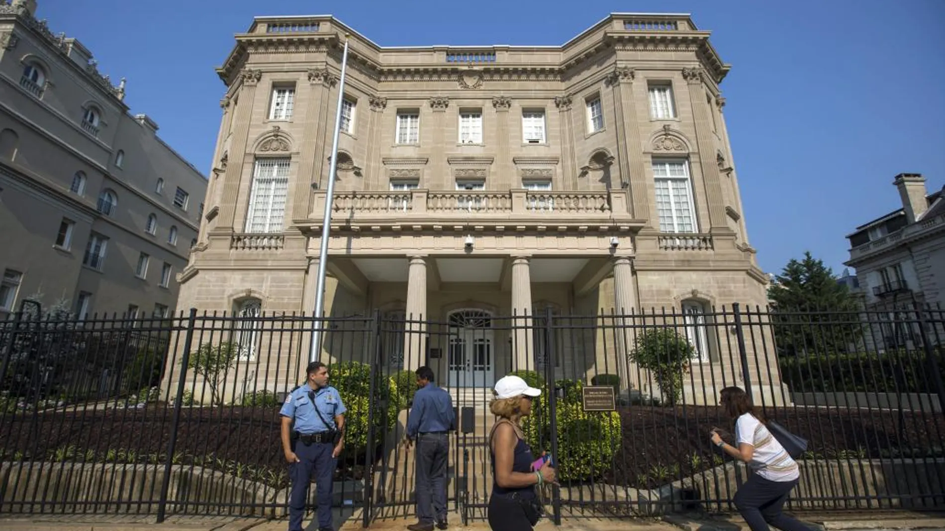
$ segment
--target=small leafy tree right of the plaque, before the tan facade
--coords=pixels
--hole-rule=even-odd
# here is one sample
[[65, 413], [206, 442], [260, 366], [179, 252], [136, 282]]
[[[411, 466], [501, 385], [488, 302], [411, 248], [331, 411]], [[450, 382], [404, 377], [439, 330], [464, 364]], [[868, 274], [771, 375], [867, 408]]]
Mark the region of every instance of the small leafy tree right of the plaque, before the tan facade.
[[689, 361], [696, 356], [696, 349], [670, 328], [651, 328], [637, 336], [631, 361], [653, 373], [663, 395], [670, 406], [679, 402], [682, 394], [682, 374], [689, 371]]

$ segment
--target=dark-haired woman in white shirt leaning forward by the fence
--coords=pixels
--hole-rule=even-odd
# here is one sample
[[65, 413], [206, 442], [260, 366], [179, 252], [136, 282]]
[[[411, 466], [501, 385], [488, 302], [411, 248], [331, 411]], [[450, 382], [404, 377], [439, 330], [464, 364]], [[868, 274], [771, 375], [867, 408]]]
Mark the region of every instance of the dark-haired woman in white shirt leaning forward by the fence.
[[726, 454], [744, 461], [753, 472], [732, 499], [752, 531], [767, 531], [768, 523], [783, 531], [810, 531], [811, 528], [785, 516], [782, 506], [798, 485], [798, 463], [787, 454], [765, 427], [761, 412], [751, 406], [741, 388], [722, 390], [719, 405], [735, 419], [734, 447], [712, 431], [713, 444]]

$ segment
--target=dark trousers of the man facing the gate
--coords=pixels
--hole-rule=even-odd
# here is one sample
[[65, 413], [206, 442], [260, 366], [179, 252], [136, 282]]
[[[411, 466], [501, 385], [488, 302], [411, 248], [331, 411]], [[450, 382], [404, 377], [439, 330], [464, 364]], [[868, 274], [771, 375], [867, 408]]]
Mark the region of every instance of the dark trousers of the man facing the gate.
[[446, 468], [450, 456], [445, 433], [417, 437], [417, 517], [421, 523], [446, 521]]

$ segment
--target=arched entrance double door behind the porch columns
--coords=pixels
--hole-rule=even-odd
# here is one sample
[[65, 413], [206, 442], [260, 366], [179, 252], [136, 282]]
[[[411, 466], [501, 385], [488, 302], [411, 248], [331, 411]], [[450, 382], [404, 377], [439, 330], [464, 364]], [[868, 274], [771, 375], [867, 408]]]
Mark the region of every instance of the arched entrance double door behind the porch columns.
[[488, 312], [450, 314], [447, 383], [451, 388], [490, 388], [495, 383], [495, 332]]

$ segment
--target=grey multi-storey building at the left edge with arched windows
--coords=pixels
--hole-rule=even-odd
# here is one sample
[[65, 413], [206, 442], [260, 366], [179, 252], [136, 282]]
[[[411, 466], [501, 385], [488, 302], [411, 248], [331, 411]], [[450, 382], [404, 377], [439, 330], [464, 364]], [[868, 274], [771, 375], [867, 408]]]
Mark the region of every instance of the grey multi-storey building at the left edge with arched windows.
[[41, 293], [83, 318], [168, 314], [207, 180], [35, 9], [0, 3], [0, 318]]

